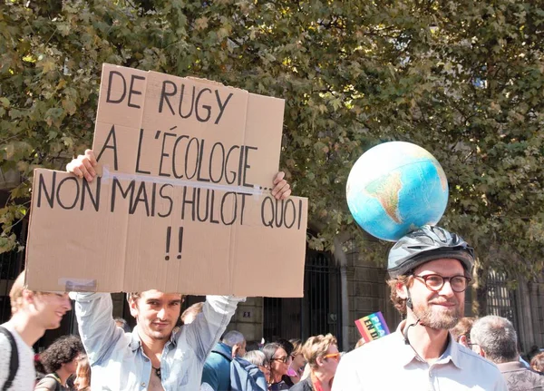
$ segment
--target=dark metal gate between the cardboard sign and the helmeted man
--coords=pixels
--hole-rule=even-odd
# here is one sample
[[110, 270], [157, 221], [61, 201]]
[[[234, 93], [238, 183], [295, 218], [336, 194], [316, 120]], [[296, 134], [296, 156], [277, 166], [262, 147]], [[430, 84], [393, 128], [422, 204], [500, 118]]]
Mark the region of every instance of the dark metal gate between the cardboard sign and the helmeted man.
[[[286, 270], [285, 272], [288, 272]], [[340, 269], [332, 254], [308, 249], [304, 298], [265, 298], [263, 334], [267, 341], [331, 333], [342, 346]]]

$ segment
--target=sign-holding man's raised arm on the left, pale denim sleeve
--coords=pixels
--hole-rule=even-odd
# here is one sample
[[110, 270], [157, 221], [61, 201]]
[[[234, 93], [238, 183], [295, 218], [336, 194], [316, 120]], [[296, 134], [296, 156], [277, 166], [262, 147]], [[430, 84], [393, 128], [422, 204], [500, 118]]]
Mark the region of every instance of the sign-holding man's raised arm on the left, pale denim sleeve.
[[113, 320], [112, 297], [109, 293], [72, 292], [70, 298], [75, 300], [79, 333], [89, 362], [93, 365], [107, 357], [124, 335]]

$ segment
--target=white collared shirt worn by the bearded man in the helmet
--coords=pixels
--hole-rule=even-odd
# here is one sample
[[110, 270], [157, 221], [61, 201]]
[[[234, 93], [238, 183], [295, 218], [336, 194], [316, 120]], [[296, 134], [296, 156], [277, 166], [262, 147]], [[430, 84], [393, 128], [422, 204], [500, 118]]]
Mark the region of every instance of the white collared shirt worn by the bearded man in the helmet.
[[401, 330], [344, 355], [333, 391], [508, 391], [499, 368], [449, 337], [448, 347], [432, 365], [404, 344]]

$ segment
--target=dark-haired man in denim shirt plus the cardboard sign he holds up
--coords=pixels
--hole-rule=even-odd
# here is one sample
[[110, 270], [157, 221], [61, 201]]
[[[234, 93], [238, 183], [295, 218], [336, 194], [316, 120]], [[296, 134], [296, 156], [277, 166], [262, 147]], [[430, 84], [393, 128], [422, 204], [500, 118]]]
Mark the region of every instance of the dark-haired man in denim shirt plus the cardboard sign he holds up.
[[[302, 297], [307, 200], [277, 173], [284, 107], [103, 64], [96, 155], [34, 171], [25, 281], [85, 292], [73, 298], [92, 389], [198, 390], [243, 297]], [[271, 262], [292, 270], [285, 287], [260, 278]], [[136, 292], [132, 333], [115, 326], [107, 292]], [[218, 296], [177, 328], [182, 297], [170, 292]]]

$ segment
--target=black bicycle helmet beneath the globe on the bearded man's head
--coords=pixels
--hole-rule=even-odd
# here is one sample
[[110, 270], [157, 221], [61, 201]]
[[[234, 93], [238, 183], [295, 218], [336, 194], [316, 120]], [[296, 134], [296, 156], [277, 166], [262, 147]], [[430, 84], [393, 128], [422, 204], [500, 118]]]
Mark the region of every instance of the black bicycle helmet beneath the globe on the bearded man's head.
[[474, 266], [474, 249], [459, 235], [425, 225], [399, 239], [389, 250], [387, 270], [392, 279], [434, 259], [459, 259], [469, 275]]

